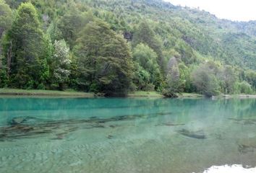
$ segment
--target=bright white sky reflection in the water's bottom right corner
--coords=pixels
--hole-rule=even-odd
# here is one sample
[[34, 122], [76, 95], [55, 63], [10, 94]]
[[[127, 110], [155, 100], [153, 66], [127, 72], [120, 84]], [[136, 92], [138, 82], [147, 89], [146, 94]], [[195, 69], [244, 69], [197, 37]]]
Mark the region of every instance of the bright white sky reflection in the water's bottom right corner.
[[256, 168], [246, 169], [242, 165], [234, 164], [232, 166], [210, 167], [204, 173], [255, 173]]

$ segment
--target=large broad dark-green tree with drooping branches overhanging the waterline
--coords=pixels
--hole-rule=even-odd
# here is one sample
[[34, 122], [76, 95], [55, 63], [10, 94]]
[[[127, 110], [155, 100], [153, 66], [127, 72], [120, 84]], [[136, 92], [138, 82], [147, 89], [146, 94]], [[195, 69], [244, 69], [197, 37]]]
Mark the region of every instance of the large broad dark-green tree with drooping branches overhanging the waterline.
[[80, 32], [74, 48], [80, 88], [106, 95], [127, 94], [132, 79], [132, 56], [121, 35], [100, 20]]

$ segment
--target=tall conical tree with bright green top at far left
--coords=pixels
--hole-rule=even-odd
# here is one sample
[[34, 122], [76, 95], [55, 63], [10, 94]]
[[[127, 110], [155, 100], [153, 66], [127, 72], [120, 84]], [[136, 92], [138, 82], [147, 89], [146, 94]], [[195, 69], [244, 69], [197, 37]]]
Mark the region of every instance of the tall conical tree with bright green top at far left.
[[4, 56], [10, 85], [40, 88], [48, 78], [47, 41], [33, 4], [21, 4], [7, 33]]

